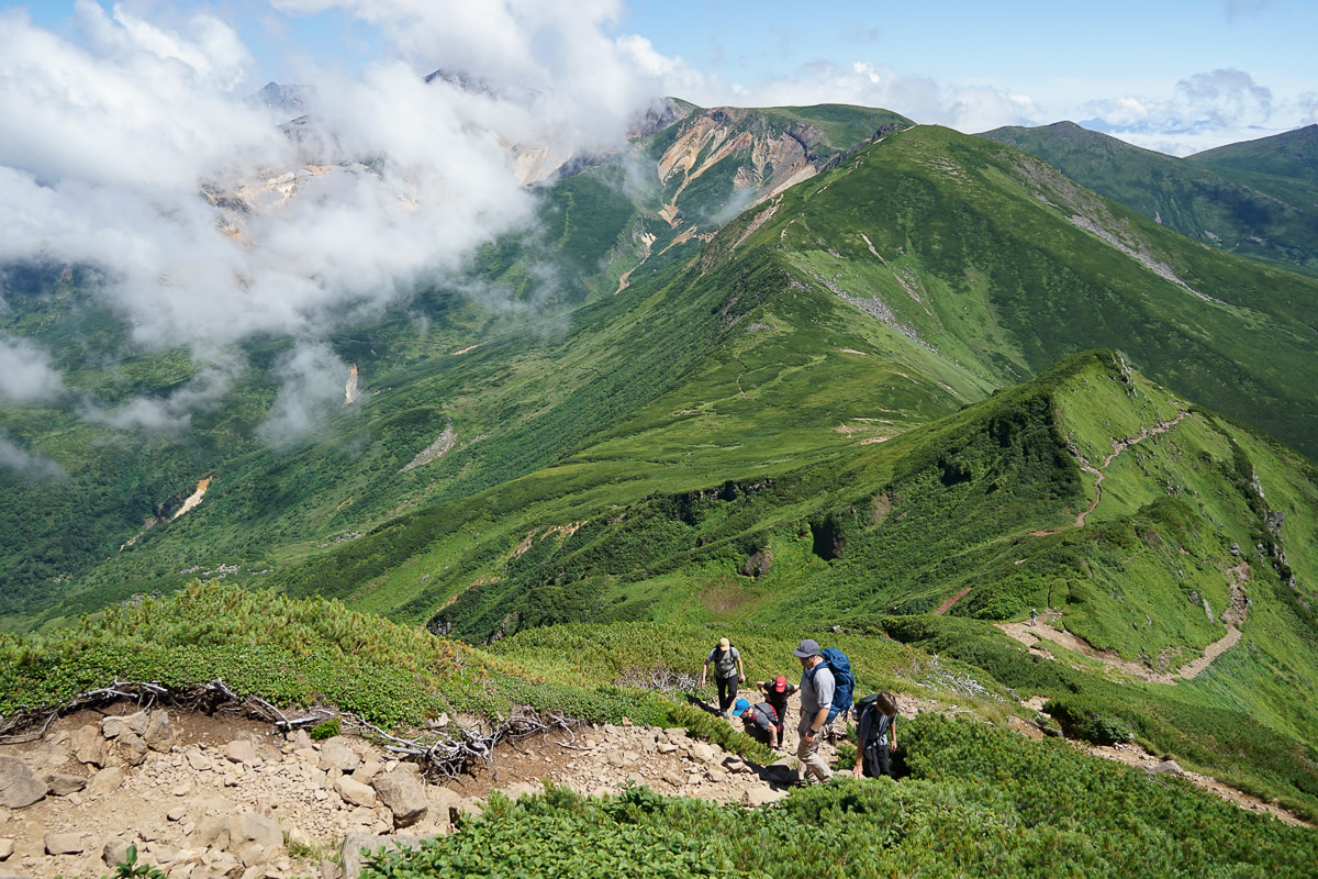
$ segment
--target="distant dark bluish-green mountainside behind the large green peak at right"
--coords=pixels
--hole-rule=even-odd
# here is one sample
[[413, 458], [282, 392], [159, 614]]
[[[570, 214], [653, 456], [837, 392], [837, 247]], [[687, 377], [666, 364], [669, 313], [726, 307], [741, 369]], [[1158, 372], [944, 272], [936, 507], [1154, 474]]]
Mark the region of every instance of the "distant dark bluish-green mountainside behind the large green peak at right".
[[1081, 186], [1201, 244], [1318, 274], [1318, 200], [1298, 182], [1255, 188], [1210, 158], [1173, 158], [1074, 123], [999, 128], [979, 137], [1033, 153]]

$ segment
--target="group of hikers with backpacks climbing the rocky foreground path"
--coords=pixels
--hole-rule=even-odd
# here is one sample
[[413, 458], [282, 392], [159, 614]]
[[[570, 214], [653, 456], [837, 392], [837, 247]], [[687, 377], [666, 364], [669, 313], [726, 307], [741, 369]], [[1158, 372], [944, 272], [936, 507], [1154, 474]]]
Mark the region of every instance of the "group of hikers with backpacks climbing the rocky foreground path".
[[746, 683], [746, 669], [741, 652], [726, 638], [705, 656], [700, 671], [700, 688], [705, 688], [709, 666], [714, 667], [714, 685], [718, 689], [718, 714], [741, 718], [746, 731], [770, 747], [784, 746], [783, 726], [787, 718], [787, 697], [800, 693], [801, 718], [796, 731], [799, 735], [796, 758], [801, 762], [800, 783], [808, 783], [811, 776], [817, 781], [828, 781], [833, 771], [820, 756], [818, 745], [832, 730], [833, 721], [842, 714], [849, 717], [854, 710], [859, 723], [857, 729], [855, 778], [878, 778], [891, 775], [890, 755], [898, 747], [898, 704], [892, 693], [874, 693], [851, 705], [851, 666], [846, 655], [838, 650], [820, 650], [816, 640], [807, 638], [792, 651], [801, 663], [800, 684], [787, 683], [786, 675], [774, 680], [757, 681], [755, 688], [763, 701], [751, 704], [738, 698], [738, 685]]

